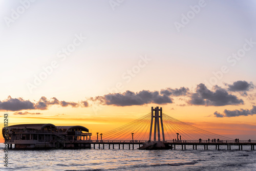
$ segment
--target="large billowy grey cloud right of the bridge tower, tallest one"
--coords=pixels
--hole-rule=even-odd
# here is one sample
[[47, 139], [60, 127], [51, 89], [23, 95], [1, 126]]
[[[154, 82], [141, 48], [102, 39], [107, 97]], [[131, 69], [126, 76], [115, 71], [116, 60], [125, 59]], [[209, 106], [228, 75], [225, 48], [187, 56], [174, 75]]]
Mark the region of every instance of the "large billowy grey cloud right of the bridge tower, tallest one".
[[244, 104], [242, 99], [238, 99], [237, 96], [228, 94], [225, 89], [222, 89], [218, 86], [215, 86], [214, 89], [214, 91], [210, 91], [203, 83], [198, 84], [196, 93], [191, 94], [191, 99], [188, 101], [188, 103], [193, 105], [206, 106]]

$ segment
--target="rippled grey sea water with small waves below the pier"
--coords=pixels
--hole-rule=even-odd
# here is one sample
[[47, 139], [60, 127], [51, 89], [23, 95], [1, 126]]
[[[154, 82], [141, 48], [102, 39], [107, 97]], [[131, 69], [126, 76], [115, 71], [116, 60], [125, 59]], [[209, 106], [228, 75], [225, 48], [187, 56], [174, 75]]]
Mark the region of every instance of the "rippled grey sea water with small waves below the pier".
[[[176, 150], [139, 150], [135, 145], [129, 149], [47, 149], [47, 150], [4, 150], [4, 143], [0, 145], [0, 170], [256, 170], [256, 150], [250, 146], [198, 146], [193, 150], [187, 145], [182, 150], [179, 145]], [[100, 147], [102, 148], [102, 146]], [[122, 145], [121, 145], [122, 148]], [[8, 155], [8, 167], [4, 164], [4, 157]]]

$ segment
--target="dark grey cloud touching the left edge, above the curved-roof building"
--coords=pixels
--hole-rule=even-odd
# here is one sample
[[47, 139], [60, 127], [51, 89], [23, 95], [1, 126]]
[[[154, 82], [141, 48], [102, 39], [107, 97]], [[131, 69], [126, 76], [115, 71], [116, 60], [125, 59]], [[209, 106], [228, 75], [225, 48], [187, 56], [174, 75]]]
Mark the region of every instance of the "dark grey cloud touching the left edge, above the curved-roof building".
[[34, 103], [23, 98], [12, 98], [9, 96], [6, 100], [0, 101], [0, 110], [6, 111], [20, 111], [35, 109]]

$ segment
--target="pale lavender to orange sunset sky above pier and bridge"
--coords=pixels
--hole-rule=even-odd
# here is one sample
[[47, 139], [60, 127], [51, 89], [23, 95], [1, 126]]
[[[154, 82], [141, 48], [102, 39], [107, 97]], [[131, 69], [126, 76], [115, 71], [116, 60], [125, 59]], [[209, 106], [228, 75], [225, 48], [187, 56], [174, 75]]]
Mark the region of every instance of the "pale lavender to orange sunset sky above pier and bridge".
[[160, 106], [256, 140], [255, 1], [0, 1], [9, 125], [108, 132]]

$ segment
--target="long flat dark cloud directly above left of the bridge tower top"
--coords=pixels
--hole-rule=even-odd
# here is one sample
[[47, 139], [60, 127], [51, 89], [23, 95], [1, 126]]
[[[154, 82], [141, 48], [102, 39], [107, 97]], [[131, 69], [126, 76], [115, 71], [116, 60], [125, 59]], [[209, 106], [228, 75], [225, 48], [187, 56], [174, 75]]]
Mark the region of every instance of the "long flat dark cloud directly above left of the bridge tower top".
[[129, 105], [143, 105], [148, 103], [166, 104], [173, 103], [172, 99], [167, 95], [160, 95], [158, 91], [140, 91], [137, 93], [126, 91], [124, 93], [114, 93], [97, 97], [106, 105], [129, 106]]

